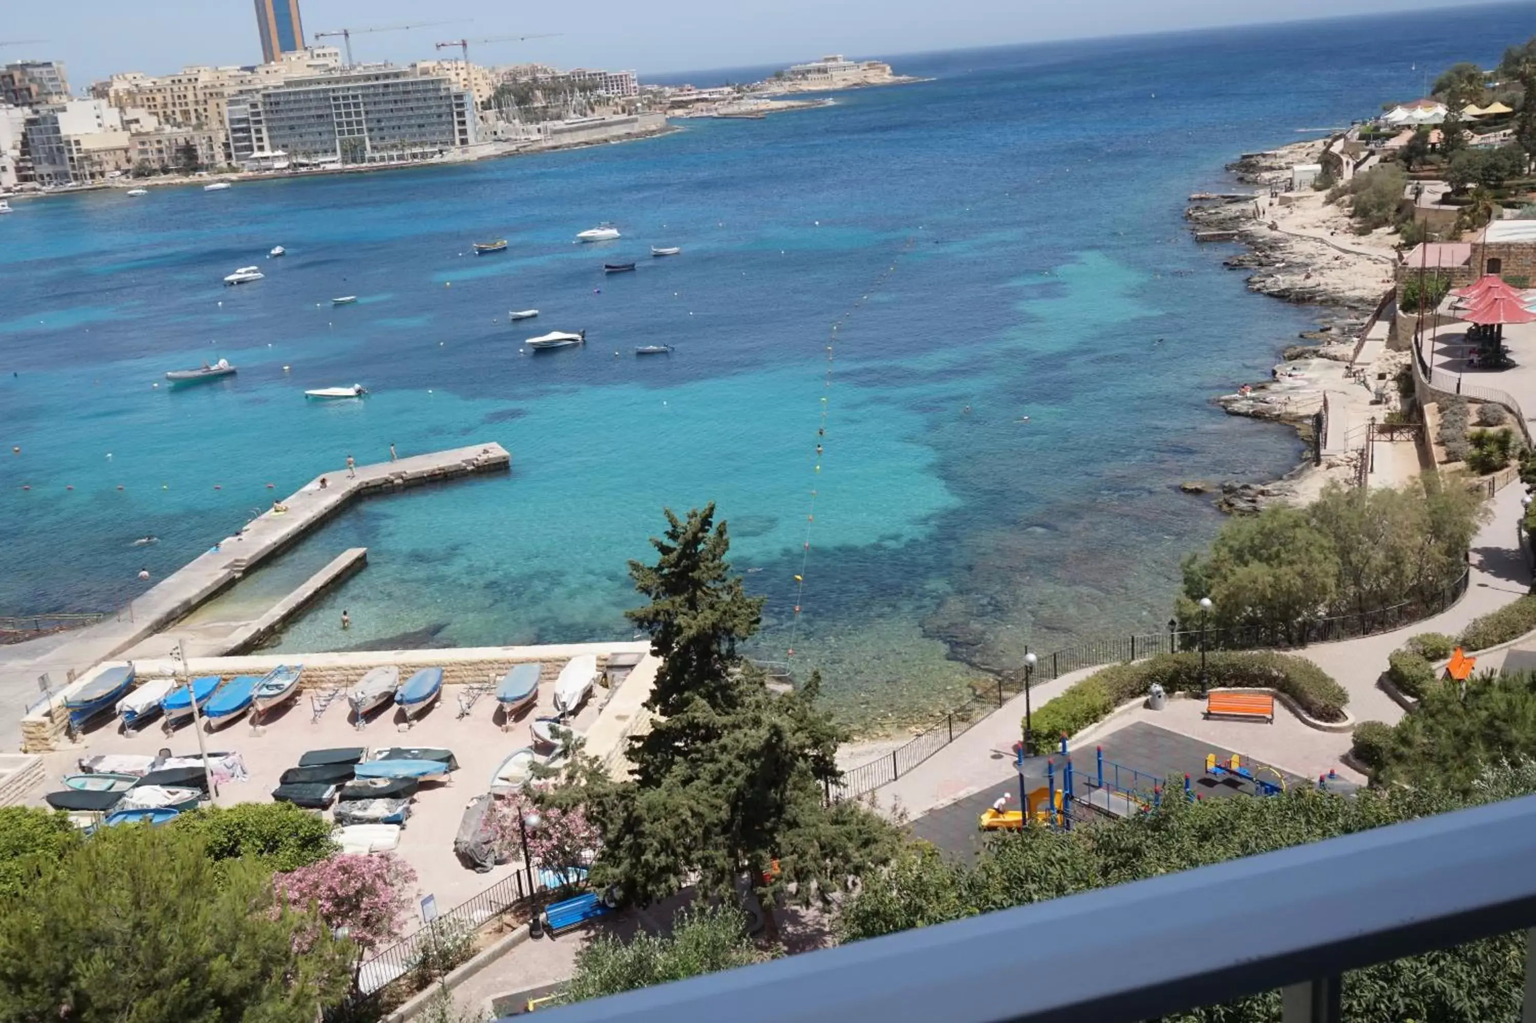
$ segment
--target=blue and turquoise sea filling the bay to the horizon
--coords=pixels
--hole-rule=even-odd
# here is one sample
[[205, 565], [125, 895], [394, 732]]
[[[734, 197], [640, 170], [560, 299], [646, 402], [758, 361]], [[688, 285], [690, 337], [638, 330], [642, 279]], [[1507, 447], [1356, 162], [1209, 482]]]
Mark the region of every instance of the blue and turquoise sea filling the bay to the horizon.
[[[1519, 5], [906, 55], [931, 81], [648, 141], [17, 203], [0, 614], [117, 607], [347, 455], [498, 441], [508, 476], [358, 504], [223, 601], [366, 545], [281, 650], [628, 639], [627, 561], [662, 508], [714, 501], [768, 599], [754, 651], [819, 667], [859, 723], [1026, 645], [1157, 628], [1221, 522], [1178, 484], [1299, 455], [1212, 395], [1318, 313], [1197, 247], [1186, 197], [1533, 31]], [[573, 243], [599, 221], [624, 238]], [[588, 343], [522, 350], [553, 329]], [[238, 376], [155, 386], [215, 358]], [[352, 382], [366, 401], [303, 396]]]

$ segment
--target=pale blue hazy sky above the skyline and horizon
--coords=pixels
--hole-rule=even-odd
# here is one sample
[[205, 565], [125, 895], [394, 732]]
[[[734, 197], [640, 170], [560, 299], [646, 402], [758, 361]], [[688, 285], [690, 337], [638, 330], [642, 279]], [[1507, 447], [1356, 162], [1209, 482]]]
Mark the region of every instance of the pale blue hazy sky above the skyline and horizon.
[[[1289, 0], [1283, 8], [1232, 0], [581, 0], [513, 9], [504, 0], [300, 0], [306, 34], [326, 29], [422, 25], [353, 35], [356, 60], [430, 58], [433, 43], [558, 34], [472, 46], [482, 65], [536, 61], [676, 74], [790, 65], [822, 54], [891, 57], [1098, 35], [1307, 20], [1424, 8], [1484, 6], [1485, 0]], [[120, 71], [167, 74], [186, 65], [261, 60], [253, 0], [71, 0], [3, 3], [0, 58], [63, 60], [71, 84]], [[326, 40], [336, 41], [339, 40]], [[450, 54], [453, 51], [449, 51]], [[900, 71], [900, 69], [897, 69]]]

